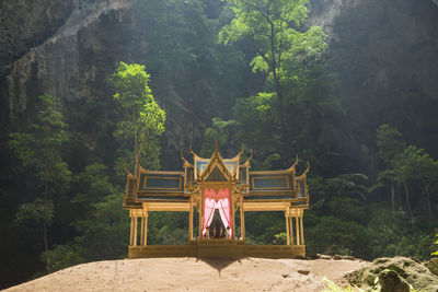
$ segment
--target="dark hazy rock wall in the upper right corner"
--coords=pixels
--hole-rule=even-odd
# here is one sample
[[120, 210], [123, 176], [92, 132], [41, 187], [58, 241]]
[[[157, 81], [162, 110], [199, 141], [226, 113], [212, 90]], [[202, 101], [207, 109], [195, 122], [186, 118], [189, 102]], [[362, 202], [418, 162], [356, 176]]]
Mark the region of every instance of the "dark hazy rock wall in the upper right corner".
[[328, 57], [342, 84], [347, 132], [359, 143], [356, 152], [367, 156], [373, 145], [364, 141], [374, 141], [377, 127], [385, 122], [437, 155], [429, 137], [438, 132], [438, 7], [410, 0], [310, 3], [309, 24], [330, 36]]

